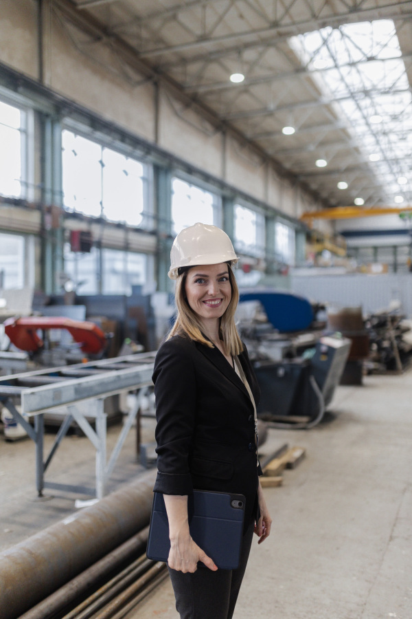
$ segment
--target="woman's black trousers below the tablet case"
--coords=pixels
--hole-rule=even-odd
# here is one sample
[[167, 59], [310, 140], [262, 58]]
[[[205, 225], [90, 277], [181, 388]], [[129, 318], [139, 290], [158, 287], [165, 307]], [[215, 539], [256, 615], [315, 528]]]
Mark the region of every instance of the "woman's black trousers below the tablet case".
[[253, 519], [244, 533], [236, 569], [212, 572], [199, 562], [194, 574], [183, 574], [169, 567], [176, 611], [181, 619], [231, 619], [251, 550], [254, 525]]

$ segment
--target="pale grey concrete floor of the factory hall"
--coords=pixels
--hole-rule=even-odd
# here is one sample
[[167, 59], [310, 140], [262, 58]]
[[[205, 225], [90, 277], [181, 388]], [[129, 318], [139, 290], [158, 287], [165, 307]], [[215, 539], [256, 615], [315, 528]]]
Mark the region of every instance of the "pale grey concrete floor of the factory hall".
[[[306, 448], [306, 459], [285, 471], [282, 487], [265, 490], [273, 532], [253, 543], [234, 619], [411, 619], [411, 388], [411, 372], [368, 376], [362, 387], [336, 390], [333, 414], [321, 425], [269, 432], [262, 453], [287, 442]], [[144, 431], [150, 435], [152, 420]], [[109, 444], [118, 432], [110, 429]], [[67, 438], [49, 477], [91, 484], [86, 444]], [[110, 489], [139, 470], [131, 433]], [[0, 486], [0, 550], [73, 511], [75, 497], [62, 492], [33, 501], [28, 441], [0, 439]], [[128, 617], [177, 619], [168, 580]]]

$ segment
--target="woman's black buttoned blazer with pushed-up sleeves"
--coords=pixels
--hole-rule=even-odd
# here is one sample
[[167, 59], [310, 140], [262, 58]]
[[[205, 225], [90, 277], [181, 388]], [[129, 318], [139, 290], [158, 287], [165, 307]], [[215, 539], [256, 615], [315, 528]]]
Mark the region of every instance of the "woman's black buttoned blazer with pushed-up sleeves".
[[[239, 356], [256, 404], [260, 389], [247, 350]], [[246, 497], [245, 523], [255, 517], [258, 475], [249, 393], [220, 350], [174, 336], [161, 345], [153, 373], [156, 396], [155, 492], [193, 488]]]

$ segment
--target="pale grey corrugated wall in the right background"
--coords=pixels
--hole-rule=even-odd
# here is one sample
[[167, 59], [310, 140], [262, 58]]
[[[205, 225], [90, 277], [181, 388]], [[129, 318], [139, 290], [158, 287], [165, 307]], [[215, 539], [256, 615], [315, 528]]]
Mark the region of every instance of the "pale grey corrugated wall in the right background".
[[294, 275], [290, 289], [310, 301], [339, 307], [361, 305], [364, 314], [387, 309], [399, 299], [402, 313], [412, 318], [412, 273], [386, 275]]

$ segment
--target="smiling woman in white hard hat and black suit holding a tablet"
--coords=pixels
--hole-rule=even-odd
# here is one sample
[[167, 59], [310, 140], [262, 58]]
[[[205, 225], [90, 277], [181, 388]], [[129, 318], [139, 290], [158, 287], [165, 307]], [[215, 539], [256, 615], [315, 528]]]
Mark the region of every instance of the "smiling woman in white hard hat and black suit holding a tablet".
[[[177, 316], [153, 373], [154, 490], [163, 493], [168, 513], [168, 567], [181, 619], [229, 619], [253, 531], [261, 543], [271, 530], [249, 395], [258, 400], [260, 391], [234, 322], [238, 258], [229, 237], [216, 226], [195, 224], [177, 235], [170, 256]], [[218, 569], [190, 536], [187, 495], [194, 488], [246, 497], [237, 569]]]

